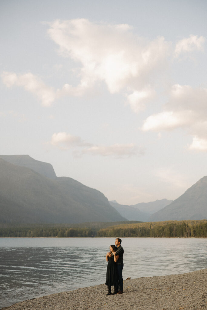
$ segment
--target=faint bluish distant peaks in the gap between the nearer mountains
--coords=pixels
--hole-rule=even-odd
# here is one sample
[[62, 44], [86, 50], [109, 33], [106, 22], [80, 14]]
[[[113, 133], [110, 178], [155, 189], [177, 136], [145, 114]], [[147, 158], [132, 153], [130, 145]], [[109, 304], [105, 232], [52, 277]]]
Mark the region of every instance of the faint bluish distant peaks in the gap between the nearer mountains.
[[120, 205], [117, 201], [109, 201], [122, 216], [128, 220], [136, 220], [147, 222], [150, 220], [151, 214], [169, 205], [172, 200], [162, 199], [151, 202], [141, 202], [136, 205]]

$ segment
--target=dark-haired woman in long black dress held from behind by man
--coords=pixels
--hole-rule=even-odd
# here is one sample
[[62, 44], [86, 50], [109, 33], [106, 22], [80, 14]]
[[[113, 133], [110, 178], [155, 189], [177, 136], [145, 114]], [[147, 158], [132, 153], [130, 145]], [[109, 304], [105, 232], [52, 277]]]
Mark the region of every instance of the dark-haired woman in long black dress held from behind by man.
[[[108, 294], [106, 295], [114, 295], [117, 294], [119, 291], [119, 280], [116, 266], [116, 262], [119, 258], [119, 255], [116, 255], [115, 245], [112, 245], [109, 248], [110, 252], [106, 254], [106, 261], [108, 262], [106, 270], [106, 285], [108, 288]], [[114, 286], [113, 294], [111, 294], [111, 286]]]

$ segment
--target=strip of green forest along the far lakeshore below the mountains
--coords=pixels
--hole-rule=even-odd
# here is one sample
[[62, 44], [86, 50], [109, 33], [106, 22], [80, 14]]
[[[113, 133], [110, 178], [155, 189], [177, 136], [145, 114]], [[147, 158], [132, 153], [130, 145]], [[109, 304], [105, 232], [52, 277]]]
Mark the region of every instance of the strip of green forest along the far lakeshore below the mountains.
[[207, 220], [81, 224], [1, 225], [0, 237], [179, 237], [207, 238]]

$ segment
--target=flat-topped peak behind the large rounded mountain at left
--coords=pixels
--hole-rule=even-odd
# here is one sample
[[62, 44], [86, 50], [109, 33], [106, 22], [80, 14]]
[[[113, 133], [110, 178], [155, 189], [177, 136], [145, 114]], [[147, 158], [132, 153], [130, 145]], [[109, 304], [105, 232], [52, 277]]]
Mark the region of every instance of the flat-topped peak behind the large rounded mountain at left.
[[11, 164], [30, 168], [41, 175], [47, 176], [50, 179], [56, 179], [55, 171], [51, 164], [40, 162], [30, 157], [29, 155], [0, 155], [0, 158], [10, 162]]

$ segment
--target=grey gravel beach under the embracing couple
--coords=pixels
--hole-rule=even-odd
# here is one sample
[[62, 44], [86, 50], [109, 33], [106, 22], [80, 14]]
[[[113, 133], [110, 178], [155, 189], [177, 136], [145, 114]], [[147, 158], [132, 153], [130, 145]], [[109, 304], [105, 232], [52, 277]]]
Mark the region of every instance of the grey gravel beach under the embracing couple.
[[25, 300], [2, 310], [204, 310], [207, 269], [124, 281], [124, 293], [106, 296], [105, 284]]

